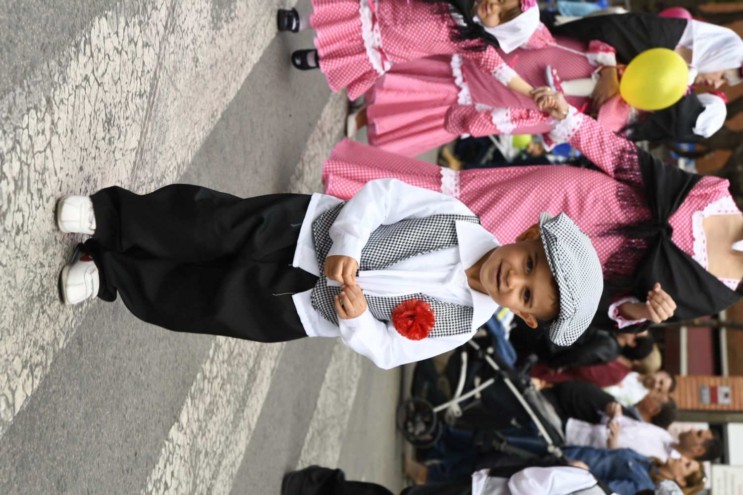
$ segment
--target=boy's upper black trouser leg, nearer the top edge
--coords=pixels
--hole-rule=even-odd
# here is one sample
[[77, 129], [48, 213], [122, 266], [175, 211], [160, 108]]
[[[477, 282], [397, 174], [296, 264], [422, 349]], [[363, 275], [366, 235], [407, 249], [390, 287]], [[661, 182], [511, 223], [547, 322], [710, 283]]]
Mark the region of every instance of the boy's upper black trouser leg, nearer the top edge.
[[[91, 201], [96, 219], [91, 246], [118, 253], [138, 247], [158, 259], [201, 262], [237, 252], [261, 259], [296, 242], [310, 196], [243, 199], [172, 184], [144, 195], [107, 187]], [[94, 251], [87, 252], [95, 257]]]

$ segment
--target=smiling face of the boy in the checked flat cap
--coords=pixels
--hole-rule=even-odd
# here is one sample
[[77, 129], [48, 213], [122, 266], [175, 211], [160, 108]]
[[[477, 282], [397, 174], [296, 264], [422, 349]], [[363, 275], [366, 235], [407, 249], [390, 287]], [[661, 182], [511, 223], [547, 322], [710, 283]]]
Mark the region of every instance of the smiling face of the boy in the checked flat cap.
[[537, 319], [552, 320], [559, 310], [559, 294], [539, 227], [533, 225], [513, 244], [493, 250], [480, 270], [487, 294], [532, 327]]

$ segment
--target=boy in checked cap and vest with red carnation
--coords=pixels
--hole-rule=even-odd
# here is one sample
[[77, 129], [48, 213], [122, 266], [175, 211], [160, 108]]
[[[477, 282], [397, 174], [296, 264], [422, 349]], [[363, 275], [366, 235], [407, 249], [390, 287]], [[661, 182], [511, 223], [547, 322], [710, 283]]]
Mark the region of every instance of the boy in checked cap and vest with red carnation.
[[499, 245], [460, 201], [394, 179], [346, 202], [108, 187], [58, 201], [60, 230], [92, 234], [60, 288], [69, 304], [120, 294], [135, 316], [175, 331], [340, 336], [382, 368], [460, 346], [499, 305], [531, 326], [551, 321], [551, 339], [569, 345], [594, 316], [601, 268], [567, 216], [537, 217]]

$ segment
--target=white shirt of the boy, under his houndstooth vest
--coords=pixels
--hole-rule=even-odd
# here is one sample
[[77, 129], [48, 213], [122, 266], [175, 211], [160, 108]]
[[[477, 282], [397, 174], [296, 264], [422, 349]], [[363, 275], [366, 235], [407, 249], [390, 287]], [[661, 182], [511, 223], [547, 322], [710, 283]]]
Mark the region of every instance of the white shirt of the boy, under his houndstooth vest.
[[[299, 232], [292, 265], [319, 276], [319, 265], [312, 236], [313, 222], [340, 203], [333, 196], [314, 194]], [[360, 259], [371, 232], [383, 224], [438, 214], [474, 215], [461, 201], [432, 190], [404, 184], [397, 179], [367, 182], [348, 200], [329, 233], [333, 245], [328, 256], [344, 255]], [[366, 294], [395, 296], [423, 293], [443, 302], [473, 308], [472, 331], [446, 337], [409, 340], [392, 323], [376, 320], [369, 309], [335, 326], [312, 308], [311, 293], [293, 295], [296, 312], [310, 337], [341, 337], [354, 351], [369, 357], [380, 368], [427, 359], [470, 340], [473, 332], [493, 316], [499, 306], [489, 295], [475, 291], [467, 283], [466, 268], [489, 250], [499, 247], [493, 234], [481, 225], [456, 223], [458, 245], [433, 251], [391, 265], [383, 270], [361, 271], [356, 282]], [[339, 285], [328, 281], [328, 285]]]

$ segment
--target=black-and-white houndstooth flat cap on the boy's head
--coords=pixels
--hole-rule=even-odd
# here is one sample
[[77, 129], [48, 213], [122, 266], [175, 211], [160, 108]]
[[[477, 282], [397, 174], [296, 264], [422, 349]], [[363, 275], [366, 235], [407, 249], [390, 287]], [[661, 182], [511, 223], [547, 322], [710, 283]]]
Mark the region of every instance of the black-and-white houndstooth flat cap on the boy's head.
[[596, 314], [603, 291], [601, 263], [591, 239], [565, 213], [541, 213], [539, 234], [559, 289], [559, 314], [550, 326], [550, 339], [569, 346]]

